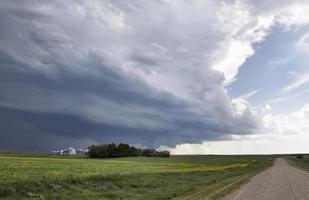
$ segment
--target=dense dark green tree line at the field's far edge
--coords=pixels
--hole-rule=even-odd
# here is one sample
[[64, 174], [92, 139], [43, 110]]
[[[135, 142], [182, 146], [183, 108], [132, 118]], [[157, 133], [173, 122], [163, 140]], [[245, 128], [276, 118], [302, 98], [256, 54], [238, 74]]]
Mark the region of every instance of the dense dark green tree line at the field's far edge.
[[92, 158], [117, 158], [117, 157], [170, 157], [169, 151], [157, 151], [155, 149], [142, 149], [128, 144], [100, 144], [88, 147], [88, 155]]

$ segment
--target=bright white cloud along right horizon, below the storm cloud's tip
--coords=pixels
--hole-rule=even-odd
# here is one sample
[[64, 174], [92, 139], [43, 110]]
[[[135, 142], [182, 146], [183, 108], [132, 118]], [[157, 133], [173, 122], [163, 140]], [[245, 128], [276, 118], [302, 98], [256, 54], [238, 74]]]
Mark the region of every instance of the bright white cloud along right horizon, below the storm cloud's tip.
[[161, 148], [170, 150], [172, 154], [273, 154], [309, 151], [309, 104], [286, 115], [272, 114], [269, 105], [263, 111], [263, 128], [260, 133], [232, 135], [228, 140]]

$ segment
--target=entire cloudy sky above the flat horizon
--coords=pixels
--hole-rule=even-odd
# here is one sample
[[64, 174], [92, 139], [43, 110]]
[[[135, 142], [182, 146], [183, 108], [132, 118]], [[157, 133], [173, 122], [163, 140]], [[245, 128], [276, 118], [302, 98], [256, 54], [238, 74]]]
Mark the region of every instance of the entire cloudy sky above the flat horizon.
[[309, 152], [309, 2], [0, 2], [0, 149]]

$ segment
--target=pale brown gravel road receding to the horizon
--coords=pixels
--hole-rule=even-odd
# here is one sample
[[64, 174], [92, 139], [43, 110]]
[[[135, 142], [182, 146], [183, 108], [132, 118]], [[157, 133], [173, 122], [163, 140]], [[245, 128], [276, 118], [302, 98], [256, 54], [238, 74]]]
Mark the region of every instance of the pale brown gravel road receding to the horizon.
[[309, 200], [309, 173], [278, 158], [225, 200]]

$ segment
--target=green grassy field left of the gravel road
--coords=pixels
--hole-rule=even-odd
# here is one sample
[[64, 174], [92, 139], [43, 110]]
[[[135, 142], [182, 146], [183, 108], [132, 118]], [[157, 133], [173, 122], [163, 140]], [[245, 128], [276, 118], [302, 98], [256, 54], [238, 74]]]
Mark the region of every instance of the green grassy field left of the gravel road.
[[218, 199], [271, 164], [266, 156], [0, 154], [0, 199]]

